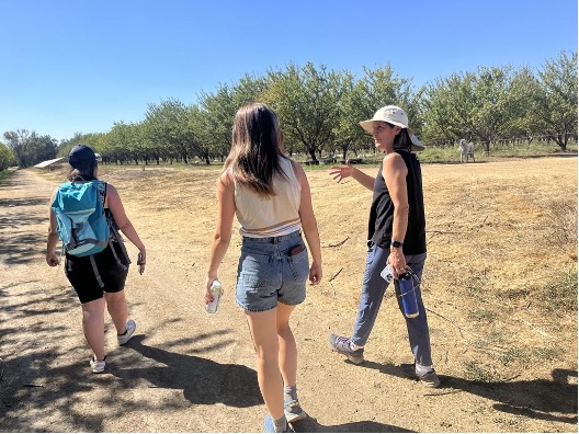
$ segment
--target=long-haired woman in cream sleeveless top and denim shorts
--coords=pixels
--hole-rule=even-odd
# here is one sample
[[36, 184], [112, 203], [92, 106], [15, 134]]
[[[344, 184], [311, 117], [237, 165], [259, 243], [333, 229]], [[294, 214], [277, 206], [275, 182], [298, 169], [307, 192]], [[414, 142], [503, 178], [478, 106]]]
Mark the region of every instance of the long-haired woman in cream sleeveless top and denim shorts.
[[280, 124], [271, 108], [258, 103], [239, 108], [231, 151], [217, 181], [217, 226], [205, 285], [208, 304], [237, 216], [242, 245], [236, 301], [246, 313], [257, 353], [259, 387], [269, 410], [264, 432], [287, 431], [288, 422], [306, 418], [297, 399], [297, 349], [290, 316], [306, 297], [306, 281], [317, 285], [322, 275], [309, 183], [281, 147]]

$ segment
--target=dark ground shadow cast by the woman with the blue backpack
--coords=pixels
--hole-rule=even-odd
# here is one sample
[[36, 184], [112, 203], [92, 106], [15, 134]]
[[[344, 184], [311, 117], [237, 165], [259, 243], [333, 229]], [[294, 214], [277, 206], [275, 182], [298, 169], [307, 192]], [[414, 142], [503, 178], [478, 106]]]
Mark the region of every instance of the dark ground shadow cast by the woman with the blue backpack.
[[[136, 335], [126, 346], [154, 361], [154, 366], [121, 368], [113, 365], [109, 369], [113, 376], [128, 384], [144, 379], [154, 385], [150, 387], [182, 389], [185, 399], [196, 404], [223, 402], [245, 408], [263, 403], [256, 370], [243, 365], [220, 364], [209, 358], [173, 353], [146, 345], [143, 340], [143, 335]], [[144, 362], [139, 364], [143, 366]]]

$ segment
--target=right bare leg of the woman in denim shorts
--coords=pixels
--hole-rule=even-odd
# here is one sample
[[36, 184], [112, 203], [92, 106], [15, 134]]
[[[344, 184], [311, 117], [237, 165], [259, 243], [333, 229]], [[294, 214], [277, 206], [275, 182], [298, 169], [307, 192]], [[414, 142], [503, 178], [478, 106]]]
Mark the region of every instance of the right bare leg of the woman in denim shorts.
[[297, 346], [290, 328], [290, 316], [295, 306], [277, 304], [277, 340], [280, 343], [280, 370], [284, 386], [295, 386], [297, 380]]

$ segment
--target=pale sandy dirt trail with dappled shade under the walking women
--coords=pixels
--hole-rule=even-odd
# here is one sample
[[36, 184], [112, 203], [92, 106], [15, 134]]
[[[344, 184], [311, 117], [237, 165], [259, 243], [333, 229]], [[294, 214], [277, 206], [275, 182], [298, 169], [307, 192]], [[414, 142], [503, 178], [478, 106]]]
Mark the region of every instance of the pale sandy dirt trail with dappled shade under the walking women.
[[[207, 181], [208, 197], [214, 179]], [[198, 286], [208, 244], [190, 243], [184, 236], [189, 229], [209, 238], [213, 203], [190, 228], [171, 229], [179, 241], [173, 242], [170, 233], [159, 235], [159, 213], [139, 213], [139, 204], [117, 185], [147, 244], [148, 265], [143, 276], [133, 266], [127, 279], [136, 336], [117, 347], [107, 318], [110, 367], [92, 375], [76, 294], [61, 266], [50, 269], [44, 261], [47, 202], [55, 185], [21, 170], [0, 186], [0, 357], [5, 364], [0, 431], [260, 432], [265, 407], [245, 317], [230, 285], [218, 312], [204, 312]], [[128, 249], [136, 262], [135, 249]], [[224, 263], [235, 264], [237, 251], [232, 243]], [[343, 273], [360, 278], [361, 267]], [[235, 266], [223, 269], [222, 281], [231, 283]], [[319, 297], [296, 310], [298, 390], [311, 415], [295, 424], [296, 432], [577, 431], [577, 408], [572, 414], [568, 408], [525, 406], [522, 397], [533, 380], [485, 385], [441, 370], [443, 386], [429, 390], [404, 378], [391, 363], [408, 356], [404, 326], [394, 302], [383, 311], [393, 318], [382, 320], [385, 328], [397, 324], [390, 335], [399, 349], [390, 358], [374, 349], [363, 366], [354, 366], [326, 342], [329, 323], [332, 331], [350, 330], [352, 311], [332, 309]], [[508, 400], [512, 406], [504, 404]]]

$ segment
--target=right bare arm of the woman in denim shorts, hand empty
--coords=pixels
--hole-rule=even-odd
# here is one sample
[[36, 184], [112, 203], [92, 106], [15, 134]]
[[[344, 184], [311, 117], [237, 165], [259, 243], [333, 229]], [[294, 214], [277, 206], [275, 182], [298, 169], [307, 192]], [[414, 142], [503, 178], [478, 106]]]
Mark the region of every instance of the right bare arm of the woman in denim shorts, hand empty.
[[302, 185], [302, 196], [299, 201], [299, 218], [302, 220], [302, 229], [306, 236], [306, 241], [311, 253], [311, 266], [309, 267], [309, 282], [311, 285], [317, 285], [321, 281], [321, 244], [318, 231], [318, 224], [314, 215], [314, 206], [311, 205], [311, 191], [306, 172], [302, 165], [294, 163], [297, 179]]

